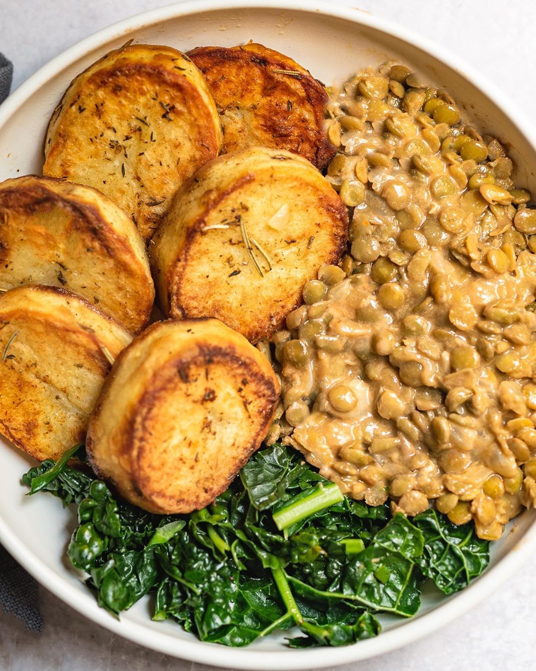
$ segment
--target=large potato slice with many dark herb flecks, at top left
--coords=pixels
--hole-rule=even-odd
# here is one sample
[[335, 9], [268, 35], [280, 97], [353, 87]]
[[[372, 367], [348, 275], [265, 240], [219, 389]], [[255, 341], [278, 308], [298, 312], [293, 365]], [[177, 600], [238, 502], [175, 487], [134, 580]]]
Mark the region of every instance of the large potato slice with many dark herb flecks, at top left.
[[148, 240], [178, 187], [221, 144], [214, 100], [190, 58], [135, 44], [72, 81], [50, 121], [43, 172], [103, 191]]

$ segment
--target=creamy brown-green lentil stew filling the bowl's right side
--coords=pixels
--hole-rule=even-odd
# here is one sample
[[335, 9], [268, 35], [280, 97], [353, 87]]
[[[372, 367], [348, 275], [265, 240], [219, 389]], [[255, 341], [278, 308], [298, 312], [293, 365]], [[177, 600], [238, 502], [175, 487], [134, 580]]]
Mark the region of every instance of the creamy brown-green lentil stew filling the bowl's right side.
[[[334, 91], [350, 250], [273, 336], [285, 435], [344, 493], [498, 539], [536, 503], [536, 210], [494, 138], [402, 65]], [[269, 344], [260, 344], [267, 354]]]

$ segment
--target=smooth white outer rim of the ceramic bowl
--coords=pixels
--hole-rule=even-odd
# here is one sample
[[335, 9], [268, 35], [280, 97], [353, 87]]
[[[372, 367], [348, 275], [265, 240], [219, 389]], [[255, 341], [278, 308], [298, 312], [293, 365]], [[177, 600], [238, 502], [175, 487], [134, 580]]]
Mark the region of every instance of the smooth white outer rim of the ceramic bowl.
[[[373, 15], [356, 7], [334, 5], [328, 0], [186, 0], [157, 9], [151, 9], [117, 23], [77, 42], [64, 52], [50, 60], [37, 72], [23, 82], [16, 91], [0, 105], [0, 127], [2, 127], [17, 111], [17, 109], [40, 89], [54, 79], [62, 70], [74, 63], [78, 58], [98, 49], [111, 40], [120, 38], [130, 32], [141, 30], [146, 25], [168, 21], [176, 17], [192, 14], [207, 13], [226, 9], [281, 9], [288, 11], [302, 11], [304, 13], [320, 13], [364, 25], [383, 32], [387, 36], [396, 37], [408, 44], [416, 46], [423, 52], [437, 58], [452, 70], [456, 70], [472, 87], [494, 101], [499, 109], [507, 115], [509, 121], [517, 127], [529, 144], [536, 151], [536, 130], [515, 103], [504, 99], [499, 87], [488, 81], [476, 68], [468, 65], [462, 58], [450, 52], [447, 48], [436, 44], [431, 39], [421, 36], [413, 30], [405, 28], [394, 21]], [[498, 103], [500, 101], [500, 103]], [[167, 632], [148, 629], [145, 625], [132, 621], [119, 621], [110, 617], [104, 609], [100, 609], [96, 601], [88, 593], [80, 595], [80, 591], [68, 576], [58, 575], [52, 568], [44, 564], [36, 552], [27, 549], [23, 542], [7, 526], [0, 517], [0, 543], [5, 549], [43, 586], [52, 591], [56, 597], [62, 599], [70, 607], [88, 617], [94, 623], [117, 633], [147, 648], [170, 656], [212, 664], [222, 668], [239, 669], [313, 669], [332, 667], [334, 665], [357, 662], [373, 656], [391, 652], [407, 645], [427, 634], [433, 633], [442, 625], [446, 625], [459, 615], [462, 615], [476, 606], [486, 596], [490, 595], [502, 582], [515, 574], [521, 565], [528, 560], [536, 549], [535, 511], [524, 513], [533, 517], [533, 523], [527, 528], [523, 537], [516, 545], [492, 568], [484, 572], [458, 595], [446, 599], [444, 603], [434, 607], [428, 613], [409, 619], [407, 623], [399, 625], [381, 633], [379, 637], [359, 641], [351, 646], [341, 648], [314, 648], [312, 650], [278, 651], [255, 650], [252, 648], [226, 648], [216, 643], [205, 643], [197, 639], [174, 638]], [[71, 576], [72, 578], [72, 576]]]

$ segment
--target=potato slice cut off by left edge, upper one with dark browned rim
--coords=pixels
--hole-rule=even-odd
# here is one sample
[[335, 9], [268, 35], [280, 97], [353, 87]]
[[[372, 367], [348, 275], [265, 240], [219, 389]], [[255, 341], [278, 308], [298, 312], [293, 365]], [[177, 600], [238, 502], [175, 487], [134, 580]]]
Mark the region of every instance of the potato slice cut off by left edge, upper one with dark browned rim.
[[0, 290], [74, 291], [131, 333], [147, 324], [154, 285], [132, 220], [109, 198], [34, 175], [0, 183]]

